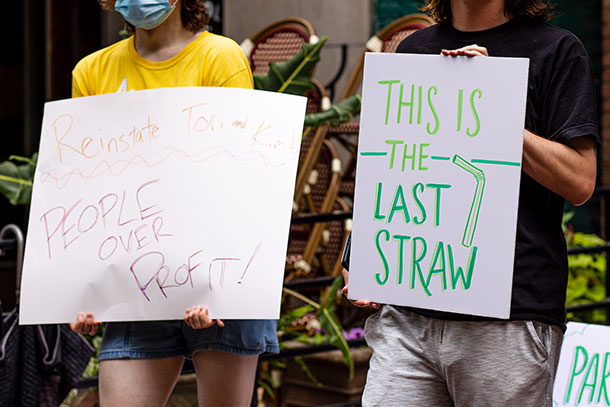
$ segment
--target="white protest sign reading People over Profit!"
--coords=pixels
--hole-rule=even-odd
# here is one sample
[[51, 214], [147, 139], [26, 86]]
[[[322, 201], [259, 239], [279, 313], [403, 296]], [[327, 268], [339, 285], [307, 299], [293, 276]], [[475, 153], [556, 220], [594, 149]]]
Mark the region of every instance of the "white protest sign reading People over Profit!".
[[20, 322], [277, 318], [305, 105], [203, 87], [47, 103]]

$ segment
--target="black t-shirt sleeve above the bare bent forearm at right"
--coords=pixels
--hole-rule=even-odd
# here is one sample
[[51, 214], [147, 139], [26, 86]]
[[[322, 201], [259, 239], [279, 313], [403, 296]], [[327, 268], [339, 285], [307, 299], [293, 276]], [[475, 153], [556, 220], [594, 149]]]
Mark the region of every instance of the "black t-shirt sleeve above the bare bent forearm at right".
[[599, 149], [593, 73], [584, 49], [551, 73], [541, 105], [541, 136], [563, 144], [591, 137]]

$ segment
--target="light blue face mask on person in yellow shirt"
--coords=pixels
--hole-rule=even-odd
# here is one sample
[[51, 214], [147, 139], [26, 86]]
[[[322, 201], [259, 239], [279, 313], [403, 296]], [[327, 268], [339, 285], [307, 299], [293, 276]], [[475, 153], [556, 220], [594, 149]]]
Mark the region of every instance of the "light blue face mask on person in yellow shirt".
[[169, 0], [116, 0], [114, 9], [134, 27], [149, 30], [160, 25], [172, 13]]

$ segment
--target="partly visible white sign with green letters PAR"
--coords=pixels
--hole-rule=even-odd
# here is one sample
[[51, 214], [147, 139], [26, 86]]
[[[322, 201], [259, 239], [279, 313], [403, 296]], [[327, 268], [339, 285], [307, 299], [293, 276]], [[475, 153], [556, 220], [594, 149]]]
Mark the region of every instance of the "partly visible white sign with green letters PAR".
[[610, 406], [610, 327], [568, 323], [553, 406]]

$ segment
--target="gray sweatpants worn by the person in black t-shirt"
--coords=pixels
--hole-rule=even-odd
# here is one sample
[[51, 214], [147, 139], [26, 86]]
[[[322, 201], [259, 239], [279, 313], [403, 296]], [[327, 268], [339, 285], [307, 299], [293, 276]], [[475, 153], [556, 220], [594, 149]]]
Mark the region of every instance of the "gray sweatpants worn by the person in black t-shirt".
[[559, 327], [446, 321], [386, 305], [364, 335], [373, 356], [363, 407], [552, 406]]

